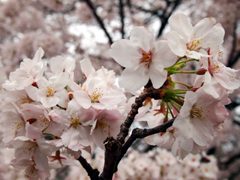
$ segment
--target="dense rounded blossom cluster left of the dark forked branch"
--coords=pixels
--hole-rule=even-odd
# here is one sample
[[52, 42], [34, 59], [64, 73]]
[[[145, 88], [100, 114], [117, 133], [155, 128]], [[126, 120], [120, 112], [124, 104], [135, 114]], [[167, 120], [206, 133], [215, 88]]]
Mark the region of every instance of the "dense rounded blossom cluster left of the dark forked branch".
[[103, 147], [119, 131], [118, 108], [126, 101], [113, 71], [96, 71], [86, 58], [80, 62], [86, 80], [76, 83], [73, 59], [43, 56], [39, 49], [33, 59], [25, 58], [1, 93], [2, 141], [15, 149], [12, 165], [33, 179], [46, 179], [49, 163], [69, 163], [64, 150]]

